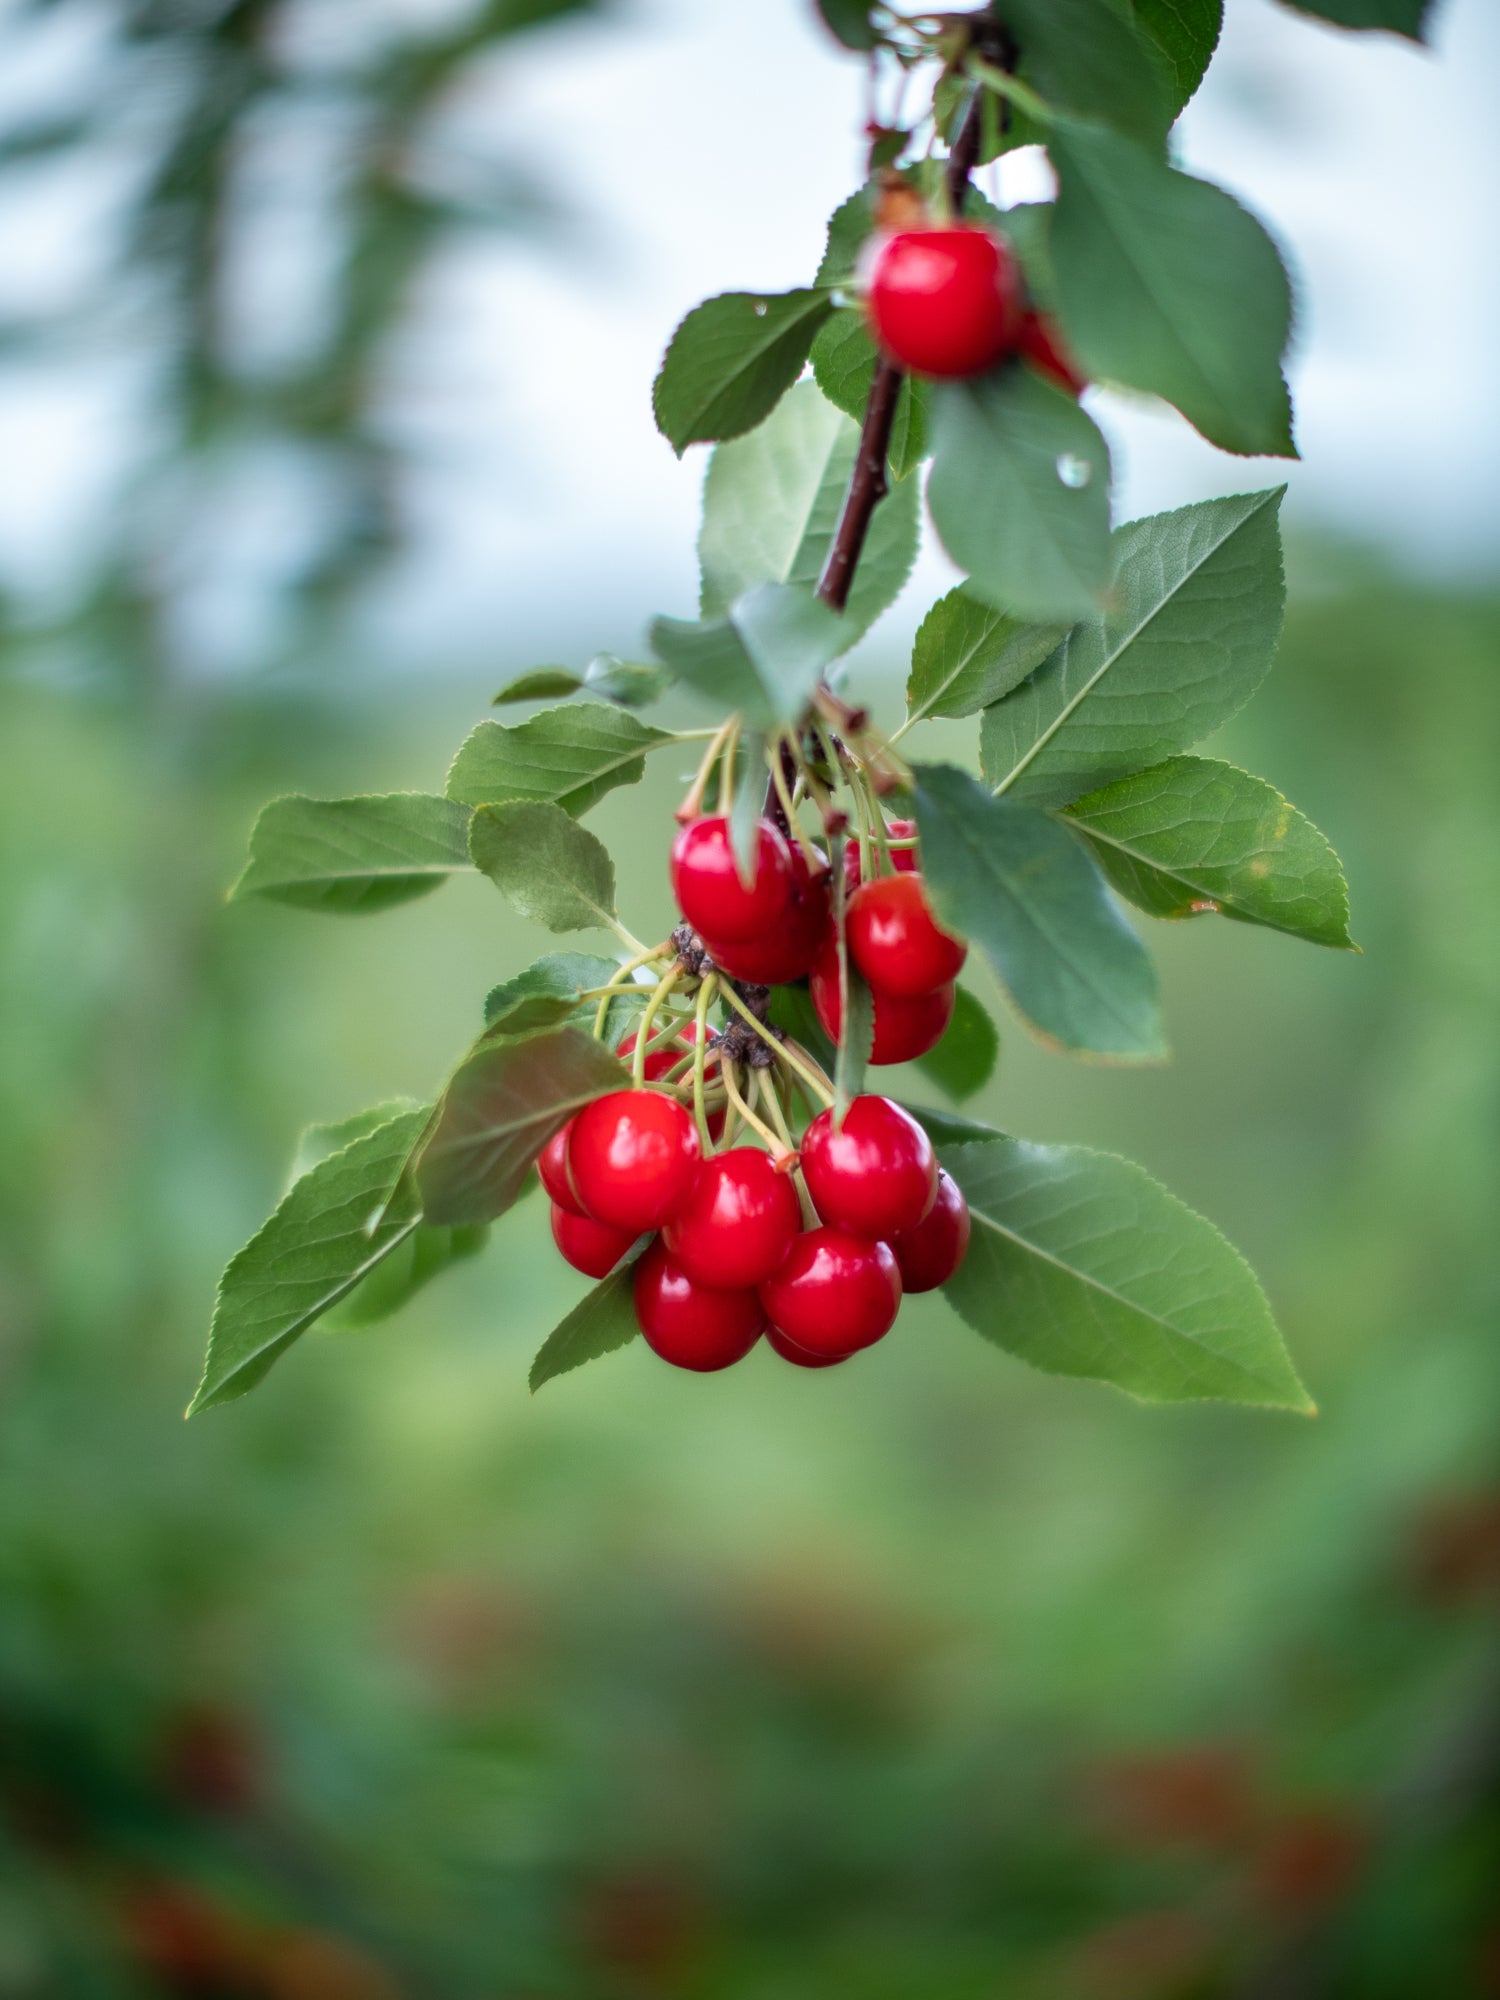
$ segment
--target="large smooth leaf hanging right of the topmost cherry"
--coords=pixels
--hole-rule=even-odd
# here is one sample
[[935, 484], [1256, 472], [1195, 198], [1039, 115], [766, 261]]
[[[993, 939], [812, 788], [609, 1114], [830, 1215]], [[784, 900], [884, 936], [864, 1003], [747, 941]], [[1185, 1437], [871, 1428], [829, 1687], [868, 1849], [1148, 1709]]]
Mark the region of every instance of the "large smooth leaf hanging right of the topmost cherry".
[[1060, 124], [1050, 152], [1056, 300], [1082, 370], [1164, 396], [1226, 452], [1296, 458], [1292, 288], [1256, 218], [1114, 132]]

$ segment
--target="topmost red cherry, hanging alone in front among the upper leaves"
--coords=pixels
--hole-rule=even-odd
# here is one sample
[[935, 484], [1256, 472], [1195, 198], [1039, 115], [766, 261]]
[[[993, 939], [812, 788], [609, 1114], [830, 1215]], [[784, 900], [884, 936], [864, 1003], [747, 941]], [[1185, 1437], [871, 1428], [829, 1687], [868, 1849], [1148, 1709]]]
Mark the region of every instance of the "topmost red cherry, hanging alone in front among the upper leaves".
[[866, 300], [884, 352], [926, 376], [974, 376], [1014, 352], [1024, 312], [1020, 266], [990, 230], [900, 230], [876, 254]]

